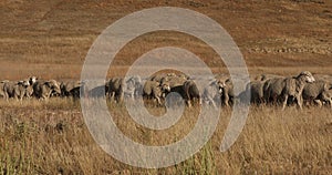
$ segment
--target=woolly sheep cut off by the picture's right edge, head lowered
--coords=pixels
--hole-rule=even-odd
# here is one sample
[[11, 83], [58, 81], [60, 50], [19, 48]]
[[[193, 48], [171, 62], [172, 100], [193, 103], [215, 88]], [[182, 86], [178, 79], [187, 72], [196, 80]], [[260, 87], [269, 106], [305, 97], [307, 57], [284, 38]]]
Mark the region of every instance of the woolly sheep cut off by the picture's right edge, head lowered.
[[302, 97], [307, 102], [317, 102], [322, 105], [322, 102], [329, 103], [332, 107], [331, 95], [329, 91], [332, 89], [332, 84], [326, 81], [315, 81], [313, 83], [307, 83], [304, 85]]

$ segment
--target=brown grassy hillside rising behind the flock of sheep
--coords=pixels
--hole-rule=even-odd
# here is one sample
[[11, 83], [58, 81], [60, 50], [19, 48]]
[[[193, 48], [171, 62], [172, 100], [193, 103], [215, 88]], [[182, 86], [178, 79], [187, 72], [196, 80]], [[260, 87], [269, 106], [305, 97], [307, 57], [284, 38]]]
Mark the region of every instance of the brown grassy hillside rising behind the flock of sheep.
[[[239, 45], [252, 73], [288, 74], [302, 69], [332, 73], [330, 0], [4, 0], [0, 2], [1, 79], [30, 74], [79, 78], [91, 44], [107, 25], [131, 12], [164, 6], [191, 9], [219, 22]], [[188, 49], [209, 66], [222, 66], [210, 48], [175, 32], [136, 39], [114, 65], [126, 68], [160, 45]]]

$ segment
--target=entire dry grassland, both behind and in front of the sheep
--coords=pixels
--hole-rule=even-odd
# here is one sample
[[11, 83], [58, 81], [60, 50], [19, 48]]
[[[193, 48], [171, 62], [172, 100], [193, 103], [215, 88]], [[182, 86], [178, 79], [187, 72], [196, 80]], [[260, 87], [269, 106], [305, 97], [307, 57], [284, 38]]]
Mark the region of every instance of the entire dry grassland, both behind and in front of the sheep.
[[[80, 79], [97, 35], [131, 12], [181, 7], [219, 22], [234, 38], [251, 76], [294, 75], [308, 70], [332, 75], [332, 1], [228, 0], [1, 0], [0, 80]], [[124, 75], [135, 59], [159, 47], [197, 54], [214, 73], [228, 70], [198, 39], [173, 31], [146, 33], [127, 43], [107, 76]], [[146, 145], [180, 140], [197, 120], [188, 110], [172, 128], [157, 132], [135, 124], [122, 104], [108, 104], [123, 133]], [[164, 109], [151, 107], [153, 114]], [[330, 174], [332, 113], [328, 107], [251, 106], [246, 126], [230, 150], [219, 152], [230, 109], [222, 107], [217, 131], [191, 158], [160, 169], [125, 165], [95, 144], [80, 103], [65, 99], [22, 103], [0, 101], [0, 174]], [[159, 140], [163, 137], [163, 140]]]

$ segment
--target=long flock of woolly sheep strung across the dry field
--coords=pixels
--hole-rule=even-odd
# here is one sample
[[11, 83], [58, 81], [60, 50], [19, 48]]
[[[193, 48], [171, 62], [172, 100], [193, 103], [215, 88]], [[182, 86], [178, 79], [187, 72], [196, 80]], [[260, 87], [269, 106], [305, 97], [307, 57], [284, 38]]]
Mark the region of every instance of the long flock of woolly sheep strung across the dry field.
[[[84, 82], [44, 81], [31, 76], [21, 81], [1, 81], [0, 96], [7, 101], [9, 99], [22, 101], [31, 97], [48, 100], [49, 97], [106, 96], [115, 102], [121, 102], [124, 97], [135, 100], [143, 96], [153, 100], [157, 105], [164, 105], [167, 94], [177, 92], [188, 106], [193, 103], [228, 106], [237, 100], [247, 102], [250, 100], [253, 104], [281, 104], [282, 109], [292, 103], [300, 109], [303, 104], [328, 104], [332, 107], [332, 83], [324, 79], [325, 76], [314, 76], [309, 71], [294, 76], [261, 74], [252, 79], [247, 84], [246, 91], [240, 94], [234, 93], [232, 81], [225, 75], [209, 80], [209, 84], [201, 93], [195, 84], [195, 79], [175, 73], [157, 74], [147, 79], [112, 78], [106, 81], [105, 85], [87, 92], [82, 91]], [[101, 94], [101, 92], [105, 93]]]

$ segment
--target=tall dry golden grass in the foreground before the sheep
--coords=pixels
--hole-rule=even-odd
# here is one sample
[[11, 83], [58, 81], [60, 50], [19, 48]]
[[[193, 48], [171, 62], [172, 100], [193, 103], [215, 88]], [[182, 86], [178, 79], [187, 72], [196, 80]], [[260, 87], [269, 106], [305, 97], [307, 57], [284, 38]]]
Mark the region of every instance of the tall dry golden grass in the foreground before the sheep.
[[[217, 131], [200, 152], [175, 166], [143, 169], [112, 158], [96, 145], [76, 102], [55, 99], [48, 103], [2, 102], [1, 106], [0, 169], [4, 174], [329, 174], [332, 169], [332, 115], [324, 107], [281, 112], [279, 107], [252, 106], [238, 141], [220, 153], [231, 112], [222, 109]], [[151, 131], [131, 121], [123, 105], [111, 103], [110, 109], [124, 134], [146, 145], [180, 140], [198, 113], [187, 110], [175, 126]]]

